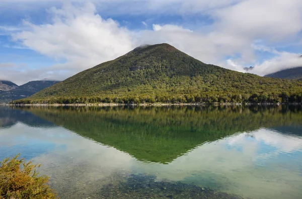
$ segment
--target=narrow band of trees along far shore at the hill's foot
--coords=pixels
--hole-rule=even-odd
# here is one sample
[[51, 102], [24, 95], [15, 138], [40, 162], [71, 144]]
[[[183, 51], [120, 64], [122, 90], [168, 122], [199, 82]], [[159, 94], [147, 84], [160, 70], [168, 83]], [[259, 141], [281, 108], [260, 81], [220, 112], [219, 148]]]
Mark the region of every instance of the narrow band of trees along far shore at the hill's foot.
[[144, 104], [144, 103], [165, 103], [165, 104], [276, 104], [276, 103], [301, 103], [302, 93], [188, 93], [188, 94], [170, 94], [158, 93], [150, 95], [105, 95], [105, 96], [62, 96], [39, 99], [22, 99], [13, 101], [15, 105], [31, 104]]

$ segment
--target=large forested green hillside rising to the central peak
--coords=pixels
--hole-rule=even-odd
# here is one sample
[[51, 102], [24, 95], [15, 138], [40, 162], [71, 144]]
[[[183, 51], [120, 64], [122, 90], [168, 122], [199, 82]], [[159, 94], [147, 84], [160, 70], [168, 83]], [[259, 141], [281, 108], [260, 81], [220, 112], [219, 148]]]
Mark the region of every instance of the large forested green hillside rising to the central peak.
[[138, 47], [14, 104], [301, 102], [302, 81], [205, 64], [169, 44]]

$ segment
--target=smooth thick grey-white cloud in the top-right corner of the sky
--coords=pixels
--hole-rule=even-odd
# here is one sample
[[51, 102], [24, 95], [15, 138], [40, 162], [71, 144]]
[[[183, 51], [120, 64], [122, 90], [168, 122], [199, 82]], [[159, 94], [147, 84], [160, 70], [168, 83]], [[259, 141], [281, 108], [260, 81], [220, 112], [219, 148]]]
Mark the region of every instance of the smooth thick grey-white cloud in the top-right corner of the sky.
[[218, 29], [232, 35], [283, 39], [302, 29], [302, 3], [299, 0], [247, 0], [218, 10]]

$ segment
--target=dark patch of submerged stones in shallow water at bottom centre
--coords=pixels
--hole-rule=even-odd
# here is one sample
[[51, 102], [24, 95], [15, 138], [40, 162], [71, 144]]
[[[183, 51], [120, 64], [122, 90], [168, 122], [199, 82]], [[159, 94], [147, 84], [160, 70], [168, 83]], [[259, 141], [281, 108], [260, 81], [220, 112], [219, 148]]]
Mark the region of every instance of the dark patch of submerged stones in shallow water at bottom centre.
[[156, 181], [156, 176], [144, 174], [129, 175], [115, 186], [105, 185], [100, 195], [106, 198], [243, 198], [179, 181]]

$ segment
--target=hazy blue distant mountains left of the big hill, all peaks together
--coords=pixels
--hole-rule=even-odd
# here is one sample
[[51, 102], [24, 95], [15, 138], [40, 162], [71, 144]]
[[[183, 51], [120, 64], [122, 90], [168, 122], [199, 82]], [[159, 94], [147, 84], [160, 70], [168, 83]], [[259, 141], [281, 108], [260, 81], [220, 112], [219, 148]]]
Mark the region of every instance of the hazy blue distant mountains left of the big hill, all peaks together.
[[18, 86], [11, 81], [0, 80], [0, 103], [9, 103], [11, 101], [29, 97], [32, 94], [52, 86], [59, 81], [30, 81], [26, 84]]

